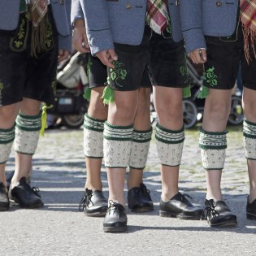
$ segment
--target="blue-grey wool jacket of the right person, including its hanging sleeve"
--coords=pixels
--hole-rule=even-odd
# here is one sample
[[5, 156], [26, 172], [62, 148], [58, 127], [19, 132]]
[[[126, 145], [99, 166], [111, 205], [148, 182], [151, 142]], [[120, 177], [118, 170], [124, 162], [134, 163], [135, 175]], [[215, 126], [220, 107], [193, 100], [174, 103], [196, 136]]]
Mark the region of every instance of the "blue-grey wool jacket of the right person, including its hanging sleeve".
[[229, 37], [236, 29], [239, 0], [180, 0], [187, 53], [206, 48], [204, 36]]

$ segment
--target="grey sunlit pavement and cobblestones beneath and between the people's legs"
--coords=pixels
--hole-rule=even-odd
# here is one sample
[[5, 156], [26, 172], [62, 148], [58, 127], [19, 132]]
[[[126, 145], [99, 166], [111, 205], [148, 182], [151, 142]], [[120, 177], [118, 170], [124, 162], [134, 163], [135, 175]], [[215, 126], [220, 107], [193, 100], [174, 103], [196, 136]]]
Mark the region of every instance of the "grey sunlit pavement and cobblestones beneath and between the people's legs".
[[[206, 184], [197, 139], [197, 131], [186, 132], [180, 190], [202, 204]], [[85, 184], [82, 141], [82, 130], [50, 130], [41, 137], [32, 184], [41, 189], [45, 206], [40, 210], [12, 206], [0, 213], [0, 255], [256, 255], [256, 222], [245, 219], [249, 181], [241, 128], [228, 133], [222, 182], [223, 197], [237, 215], [237, 228], [210, 228], [206, 221], [159, 217], [161, 182], [153, 139], [144, 182], [155, 210], [145, 214], [128, 210], [128, 232], [104, 233], [102, 218], [78, 211]], [[14, 169], [13, 160], [12, 154], [7, 171]], [[102, 181], [107, 194], [103, 167]]]

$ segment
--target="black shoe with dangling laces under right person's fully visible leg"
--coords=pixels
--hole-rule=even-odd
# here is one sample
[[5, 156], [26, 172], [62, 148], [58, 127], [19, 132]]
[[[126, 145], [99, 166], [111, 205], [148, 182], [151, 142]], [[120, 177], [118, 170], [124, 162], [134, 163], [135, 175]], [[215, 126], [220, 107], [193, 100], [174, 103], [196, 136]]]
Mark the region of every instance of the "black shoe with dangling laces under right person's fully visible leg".
[[202, 219], [206, 219], [210, 227], [236, 227], [236, 215], [232, 214], [225, 202], [206, 199], [205, 205]]

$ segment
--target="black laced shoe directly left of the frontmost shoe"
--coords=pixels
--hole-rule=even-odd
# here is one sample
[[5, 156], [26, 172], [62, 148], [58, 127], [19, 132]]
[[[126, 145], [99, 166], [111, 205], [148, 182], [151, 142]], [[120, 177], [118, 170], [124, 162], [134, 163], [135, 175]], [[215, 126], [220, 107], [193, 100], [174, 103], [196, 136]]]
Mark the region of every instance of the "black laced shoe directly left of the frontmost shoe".
[[85, 211], [85, 215], [103, 217], [106, 215], [107, 201], [101, 190], [85, 189], [85, 194], [80, 201], [79, 210]]

